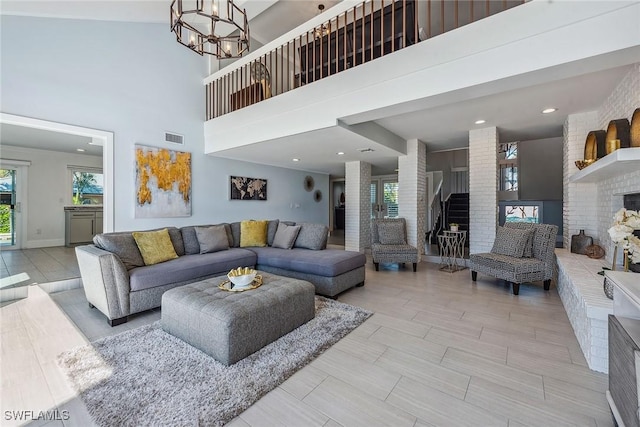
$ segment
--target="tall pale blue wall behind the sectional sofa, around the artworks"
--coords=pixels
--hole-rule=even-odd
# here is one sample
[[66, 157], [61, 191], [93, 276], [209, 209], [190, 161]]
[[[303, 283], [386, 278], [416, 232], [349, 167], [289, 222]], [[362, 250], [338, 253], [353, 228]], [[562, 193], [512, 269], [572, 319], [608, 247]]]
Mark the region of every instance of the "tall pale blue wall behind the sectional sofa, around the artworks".
[[[167, 25], [3, 15], [0, 39], [2, 112], [114, 133], [116, 230], [265, 217], [328, 224], [328, 175], [203, 154], [206, 60]], [[165, 131], [185, 145], [165, 144]], [[137, 143], [192, 153], [191, 217], [134, 219]], [[230, 201], [229, 175], [267, 179], [268, 200]], [[320, 203], [304, 191], [306, 175]]]

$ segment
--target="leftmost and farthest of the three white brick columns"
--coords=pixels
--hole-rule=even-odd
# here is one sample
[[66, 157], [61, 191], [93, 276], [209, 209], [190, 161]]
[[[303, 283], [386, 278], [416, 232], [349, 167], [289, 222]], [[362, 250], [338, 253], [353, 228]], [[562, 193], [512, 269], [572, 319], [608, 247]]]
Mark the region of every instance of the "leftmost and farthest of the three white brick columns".
[[364, 252], [371, 240], [371, 164], [347, 162], [345, 175], [344, 248]]

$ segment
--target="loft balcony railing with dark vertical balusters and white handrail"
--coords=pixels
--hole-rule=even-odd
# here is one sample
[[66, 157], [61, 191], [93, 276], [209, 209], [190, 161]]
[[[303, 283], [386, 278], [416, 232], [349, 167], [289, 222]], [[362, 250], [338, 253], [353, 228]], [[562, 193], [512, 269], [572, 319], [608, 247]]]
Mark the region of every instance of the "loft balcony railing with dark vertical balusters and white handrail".
[[[205, 83], [206, 120], [428, 40], [527, 0], [344, 1], [299, 27], [298, 35], [249, 55]], [[319, 18], [319, 17], [318, 17]], [[260, 49], [260, 50], [262, 50]], [[228, 70], [228, 71], [225, 71]]]

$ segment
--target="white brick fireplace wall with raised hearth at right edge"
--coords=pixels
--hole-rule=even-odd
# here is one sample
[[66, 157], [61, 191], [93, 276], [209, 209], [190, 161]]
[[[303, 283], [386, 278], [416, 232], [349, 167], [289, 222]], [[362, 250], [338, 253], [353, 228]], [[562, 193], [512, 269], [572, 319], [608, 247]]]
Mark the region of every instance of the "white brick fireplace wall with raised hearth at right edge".
[[640, 192], [640, 170], [597, 183], [569, 183], [569, 177], [578, 171], [575, 160], [584, 158], [587, 134], [606, 130], [610, 120], [630, 119], [638, 106], [640, 64], [635, 64], [598, 111], [572, 114], [564, 125], [564, 246], [569, 248], [571, 236], [584, 229], [605, 249], [606, 260], [556, 251], [558, 293], [589, 367], [600, 372], [608, 371], [607, 314], [613, 309], [602, 290], [603, 278], [596, 273], [612, 261], [614, 246], [607, 230], [623, 206], [622, 195]]

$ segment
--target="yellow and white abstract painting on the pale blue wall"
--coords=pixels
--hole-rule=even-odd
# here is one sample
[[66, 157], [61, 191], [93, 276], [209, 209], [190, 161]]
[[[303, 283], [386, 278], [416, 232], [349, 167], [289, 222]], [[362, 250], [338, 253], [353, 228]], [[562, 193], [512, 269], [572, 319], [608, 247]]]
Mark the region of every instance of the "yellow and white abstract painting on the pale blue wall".
[[191, 153], [136, 144], [136, 218], [191, 216]]

